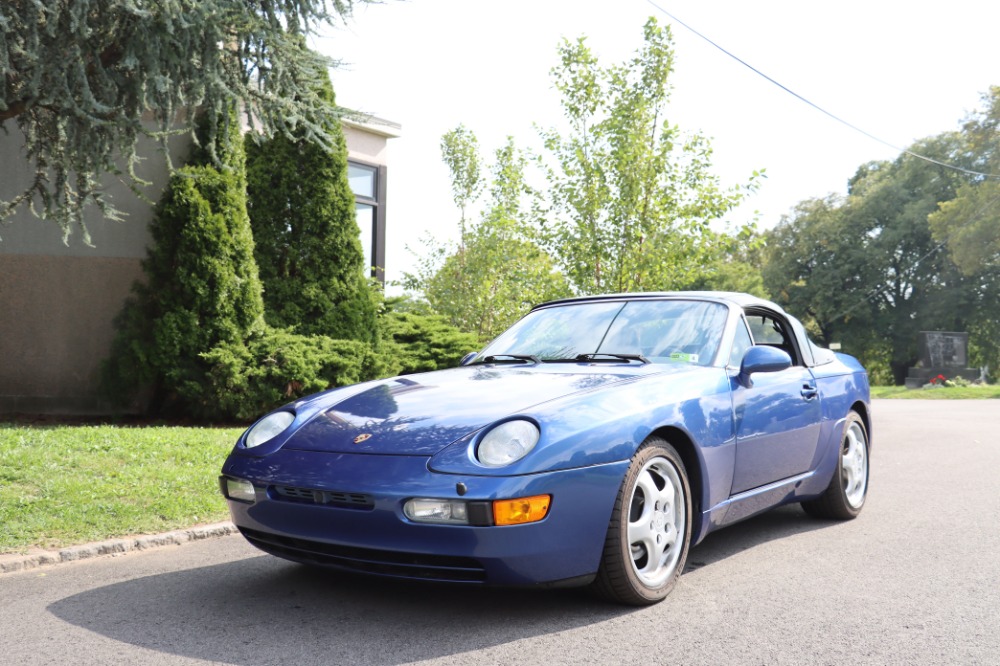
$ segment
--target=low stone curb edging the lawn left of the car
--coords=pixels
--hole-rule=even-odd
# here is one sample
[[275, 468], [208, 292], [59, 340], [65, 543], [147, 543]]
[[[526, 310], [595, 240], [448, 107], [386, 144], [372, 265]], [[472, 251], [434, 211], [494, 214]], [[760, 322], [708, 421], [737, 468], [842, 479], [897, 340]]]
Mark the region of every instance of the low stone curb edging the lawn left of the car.
[[0, 575], [17, 571], [28, 571], [66, 562], [79, 562], [97, 557], [114, 557], [163, 546], [180, 546], [191, 541], [201, 541], [215, 537], [238, 534], [239, 530], [232, 523], [216, 523], [214, 525], [199, 525], [186, 530], [152, 534], [139, 537], [111, 539], [82, 546], [70, 546], [61, 550], [34, 551], [26, 554], [14, 553], [0, 555]]

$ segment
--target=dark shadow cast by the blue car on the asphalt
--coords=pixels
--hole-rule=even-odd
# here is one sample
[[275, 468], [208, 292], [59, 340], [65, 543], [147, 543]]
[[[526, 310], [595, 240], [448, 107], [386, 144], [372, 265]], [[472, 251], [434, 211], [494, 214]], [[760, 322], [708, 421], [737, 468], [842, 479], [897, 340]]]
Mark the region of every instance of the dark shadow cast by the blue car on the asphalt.
[[[771, 511], [710, 536], [691, 551], [688, 570], [830, 524], [806, 518], [797, 507]], [[75, 626], [148, 650], [257, 666], [408, 663], [630, 613], [660, 618], [669, 614], [669, 604], [668, 598], [636, 609], [580, 590], [390, 581], [251, 556], [88, 590], [48, 610]]]

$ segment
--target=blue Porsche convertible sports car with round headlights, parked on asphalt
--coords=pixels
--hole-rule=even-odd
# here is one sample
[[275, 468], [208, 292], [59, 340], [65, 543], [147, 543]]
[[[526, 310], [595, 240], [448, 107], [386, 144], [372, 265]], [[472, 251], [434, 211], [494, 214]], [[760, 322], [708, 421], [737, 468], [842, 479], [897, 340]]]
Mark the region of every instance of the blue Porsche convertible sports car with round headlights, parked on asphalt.
[[676, 292], [539, 305], [450, 370], [257, 421], [220, 483], [279, 557], [649, 604], [706, 534], [772, 507], [854, 518], [868, 376], [774, 303]]

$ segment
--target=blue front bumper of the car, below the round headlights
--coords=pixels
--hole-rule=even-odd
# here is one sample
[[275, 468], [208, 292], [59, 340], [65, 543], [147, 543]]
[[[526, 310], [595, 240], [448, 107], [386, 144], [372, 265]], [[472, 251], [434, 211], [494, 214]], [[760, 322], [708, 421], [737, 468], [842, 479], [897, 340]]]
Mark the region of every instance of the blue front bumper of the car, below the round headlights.
[[[229, 500], [236, 526], [250, 543], [287, 559], [496, 585], [596, 573], [627, 460], [513, 477], [440, 474], [427, 462], [425, 456], [279, 450], [260, 458], [234, 453], [222, 473], [254, 484], [253, 503]], [[525, 525], [434, 525], [403, 514], [414, 497], [476, 502], [541, 494], [552, 496], [548, 515]]]

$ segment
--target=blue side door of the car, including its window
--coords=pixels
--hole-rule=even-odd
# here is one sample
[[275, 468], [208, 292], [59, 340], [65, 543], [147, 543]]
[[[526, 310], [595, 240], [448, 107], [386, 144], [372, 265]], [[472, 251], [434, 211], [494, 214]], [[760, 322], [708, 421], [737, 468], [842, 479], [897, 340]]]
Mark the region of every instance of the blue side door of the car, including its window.
[[[760, 309], [748, 310], [743, 321], [752, 344], [784, 350], [791, 356], [792, 366], [779, 372], [756, 373], [750, 387], [732, 380], [736, 424], [734, 495], [808, 471], [820, 431], [816, 382], [802, 362], [788, 322]], [[738, 344], [739, 338], [734, 344], [734, 356]], [[742, 360], [742, 354], [739, 357]], [[730, 362], [739, 367], [735, 358]]]

